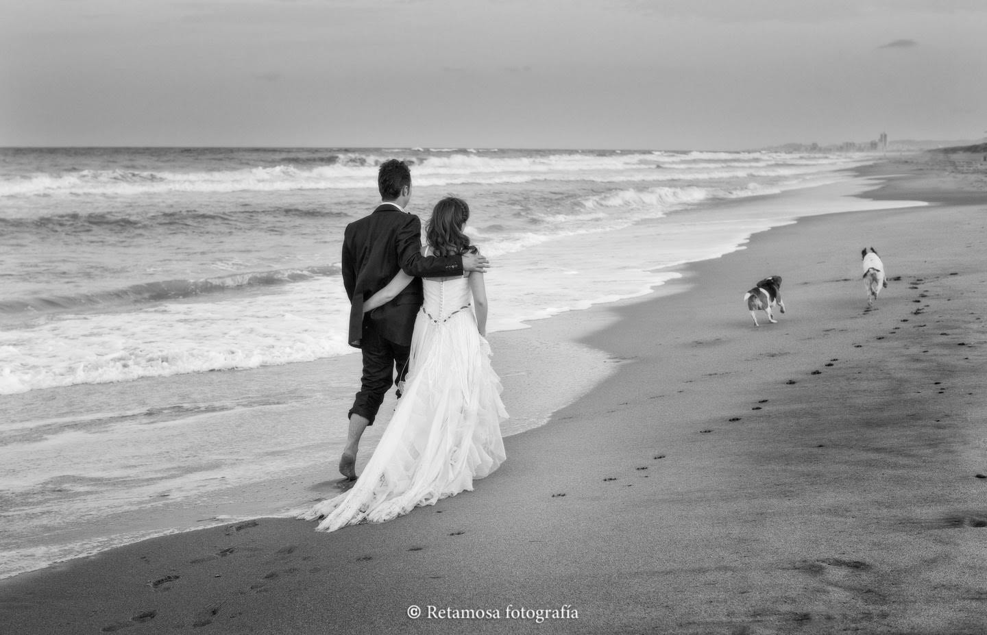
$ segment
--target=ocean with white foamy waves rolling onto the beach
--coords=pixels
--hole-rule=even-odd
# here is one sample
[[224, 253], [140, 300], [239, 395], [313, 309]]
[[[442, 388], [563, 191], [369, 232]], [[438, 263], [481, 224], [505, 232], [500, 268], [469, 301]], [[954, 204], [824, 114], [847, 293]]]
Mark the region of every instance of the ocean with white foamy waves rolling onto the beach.
[[[299, 474], [342, 443], [325, 428], [358, 377], [342, 232], [389, 158], [412, 164], [422, 222], [445, 195], [469, 202], [492, 333], [651, 294], [799, 216], [892, 206], [845, 198], [876, 155], [0, 149], [0, 577], [306, 503]], [[542, 353], [599, 361], [573, 346]], [[580, 377], [517, 397], [505, 432], [600, 376]]]

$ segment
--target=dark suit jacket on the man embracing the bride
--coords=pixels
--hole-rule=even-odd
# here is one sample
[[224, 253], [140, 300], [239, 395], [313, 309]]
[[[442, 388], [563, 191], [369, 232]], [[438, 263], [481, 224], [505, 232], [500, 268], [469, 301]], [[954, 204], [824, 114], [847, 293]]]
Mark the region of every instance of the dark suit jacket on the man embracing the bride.
[[342, 240], [342, 284], [349, 296], [350, 346], [360, 347], [363, 303], [387, 286], [399, 270], [415, 276], [398, 296], [367, 315], [378, 332], [410, 345], [415, 317], [423, 300], [420, 277], [463, 273], [463, 256], [421, 255], [421, 222], [396, 205], [382, 203], [369, 216], [346, 226]]

